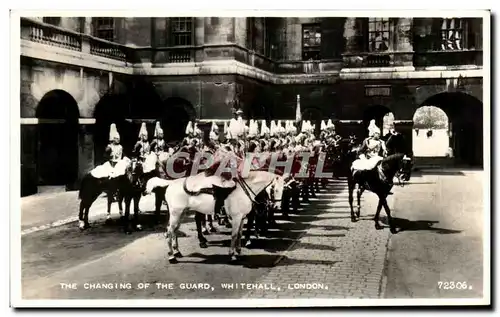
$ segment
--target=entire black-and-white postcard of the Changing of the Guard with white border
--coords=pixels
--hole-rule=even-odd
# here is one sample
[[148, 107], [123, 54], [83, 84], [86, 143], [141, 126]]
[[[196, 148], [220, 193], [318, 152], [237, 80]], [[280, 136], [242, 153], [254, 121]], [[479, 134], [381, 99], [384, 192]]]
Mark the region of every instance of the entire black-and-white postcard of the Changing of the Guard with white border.
[[32, 13], [14, 307], [491, 304], [489, 11]]

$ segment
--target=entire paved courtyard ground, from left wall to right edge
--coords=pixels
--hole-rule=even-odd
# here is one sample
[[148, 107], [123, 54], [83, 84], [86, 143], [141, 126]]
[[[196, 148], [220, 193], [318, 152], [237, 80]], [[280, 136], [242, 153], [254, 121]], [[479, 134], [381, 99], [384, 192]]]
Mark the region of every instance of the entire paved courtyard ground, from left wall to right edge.
[[[397, 235], [390, 235], [387, 228], [375, 230], [371, 218], [376, 200], [368, 192], [363, 195], [362, 219], [351, 223], [345, 182], [330, 183], [317, 199], [304, 205], [298, 214], [292, 214], [290, 221], [278, 220], [279, 228], [272, 230], [269, 237], [245, 248], [238, 265], [228, 264], [228, 229], [220, 228], [218, 234], [208, 236], [209, 248], [200, 249], [192, 216], [181, 227], [187, 234], [179, 239], [185, 257], [181, 263], [171, 265], [167, 261], [163, 228], [150, 225], [150, 216], [145, 214], [145, 230], [124, 235], [116, 223], [104, 224], [104, 199], [92, 209], [97, 217], [89, 231], [80, 232], [76, 222], [72, 222], [30, 233], [29, 223], [43, 224], [44, 214], [46, 223], [57, 219], [59, 213], [68, 217], [76, 212], [77, 201], [71, 193], [60, 199], [40, 196], [38, 203], [36, 198], [28, 197], [23, 199], [23, 208], [29, 206], [29, 210], [23, 209], [23, 297], [481, 296], [481, 176], [482, 172], [457, 170], [414, 173], [412, 184], [395, 188], [389, 198], [393, 216], [403, 228]], [[151, 198], [141, 203], [142, 210], [152, 208]], [[25, 215], [36, 214], [32, 209], [48, 212], [39, 212], [36, 221], [28, 222]], [[116, 209], [114, 205], [115, 215]], [[439, 290], [438, 281], [467, 282], [472, 289]], [[123, 285], [112, 286], [124, 289], [85, 288], [89, 286], [85, 283], [95, 287], [96, 283], [120, 282]], [[77, 289], [62, 288], [60, 283], [77, 283]], [[140, 283], [150, 286], [138, 289]], [[164, 285], [158, 287], [156, 283]], [[208, 289], [199, 289], [199, 285], [198, 289], [180, 289], [182, 283], [207, 283], [201, 287]], [[272, 289], [252, 289], [255, 287]]]

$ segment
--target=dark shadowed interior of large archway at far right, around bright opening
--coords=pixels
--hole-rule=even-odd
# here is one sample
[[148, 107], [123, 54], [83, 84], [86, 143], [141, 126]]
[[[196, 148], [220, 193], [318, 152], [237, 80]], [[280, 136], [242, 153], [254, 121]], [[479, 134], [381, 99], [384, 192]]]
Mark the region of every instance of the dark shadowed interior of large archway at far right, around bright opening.
[[421, 106], [441, 108], [449, 119], [449, 140], [454, 163], [483, 167], [483, 105], [475, 97], [461, 93], [440, 93]]

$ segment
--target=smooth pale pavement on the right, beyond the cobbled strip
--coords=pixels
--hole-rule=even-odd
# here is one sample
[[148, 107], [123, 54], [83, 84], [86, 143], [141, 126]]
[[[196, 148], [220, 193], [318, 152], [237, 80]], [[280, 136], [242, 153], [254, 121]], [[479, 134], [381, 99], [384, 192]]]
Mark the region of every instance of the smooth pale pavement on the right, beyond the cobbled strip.
[[[394, 195], [406, 230], [390, 239], [385, 297], [482, 297], [483, 173], [414, 173], [412, 184]], [[467, 287], [450, 289], [457, 282]]]

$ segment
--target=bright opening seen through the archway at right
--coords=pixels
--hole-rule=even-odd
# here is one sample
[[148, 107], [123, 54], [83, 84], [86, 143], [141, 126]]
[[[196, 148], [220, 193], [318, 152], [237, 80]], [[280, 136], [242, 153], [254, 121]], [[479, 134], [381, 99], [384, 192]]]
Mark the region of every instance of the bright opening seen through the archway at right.
[[449, 118], [439, 107], [422, 106], [413, 115], [413, 154], [446, 157], [450, 146]]

